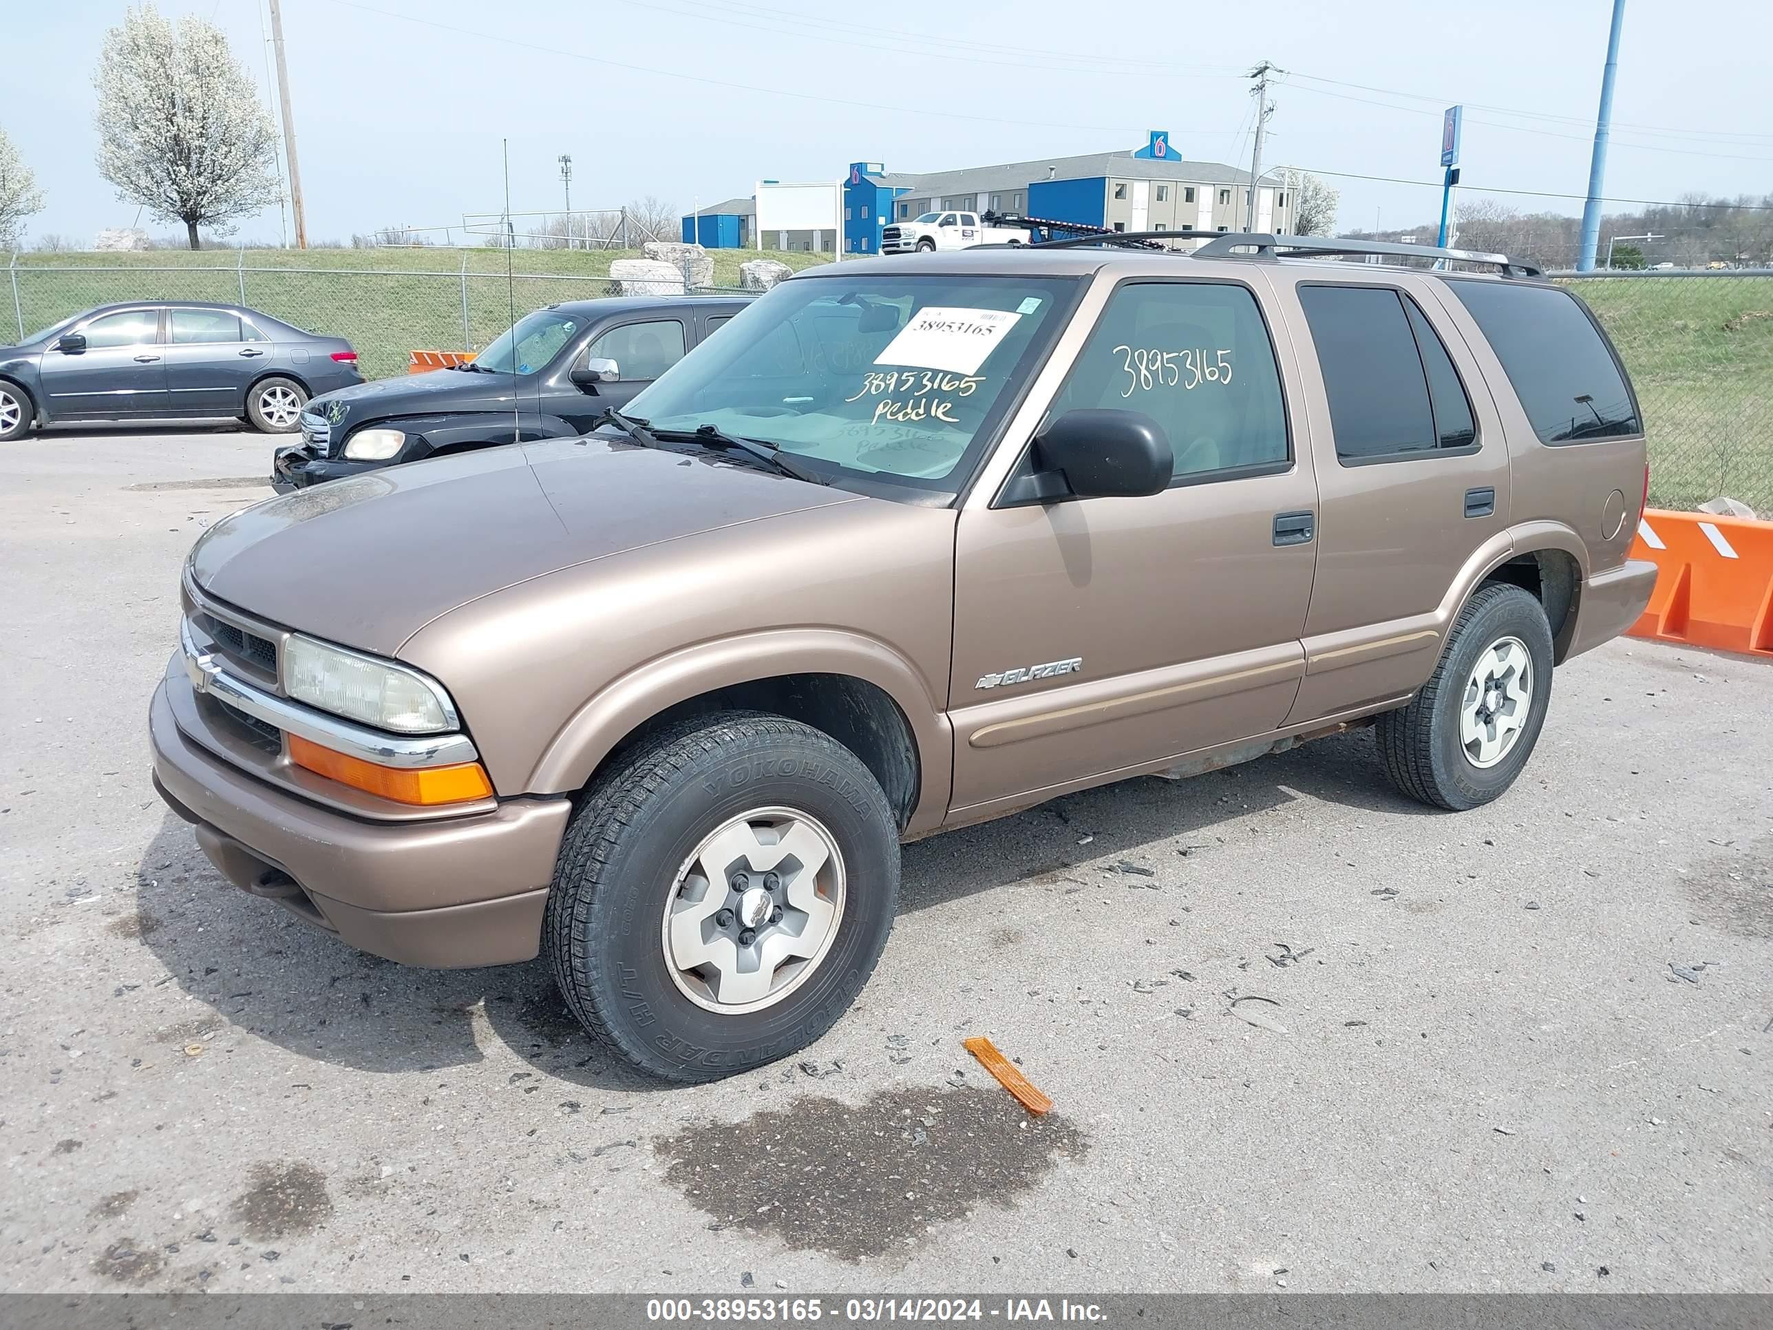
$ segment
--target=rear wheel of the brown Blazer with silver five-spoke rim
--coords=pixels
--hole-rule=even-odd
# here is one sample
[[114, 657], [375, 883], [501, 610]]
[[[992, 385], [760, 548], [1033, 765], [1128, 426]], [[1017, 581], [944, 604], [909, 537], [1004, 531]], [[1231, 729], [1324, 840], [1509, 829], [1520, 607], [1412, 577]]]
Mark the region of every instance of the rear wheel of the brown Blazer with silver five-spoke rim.
[[1489, 803], [1527, 766], [1550, 702], [1544, 608], [1514, 585], [1479, 587], [1422, 692], [1379, 716], [1385, 773], [1401, 793], [1438, 809]]

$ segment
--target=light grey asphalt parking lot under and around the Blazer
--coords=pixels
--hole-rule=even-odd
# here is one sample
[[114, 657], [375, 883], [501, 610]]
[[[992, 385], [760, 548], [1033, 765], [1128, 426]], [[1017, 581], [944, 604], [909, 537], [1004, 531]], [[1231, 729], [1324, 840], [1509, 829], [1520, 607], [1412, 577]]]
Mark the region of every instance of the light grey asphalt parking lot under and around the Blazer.
[[5, 1289], [1773, 1291], [1773, 665], [1580, 658], [1472, 814], [1356, 732], [920, 842], [835, 1030], [660, 1089], [154, 796], [179, 562], [269, 452], [0, 449]]

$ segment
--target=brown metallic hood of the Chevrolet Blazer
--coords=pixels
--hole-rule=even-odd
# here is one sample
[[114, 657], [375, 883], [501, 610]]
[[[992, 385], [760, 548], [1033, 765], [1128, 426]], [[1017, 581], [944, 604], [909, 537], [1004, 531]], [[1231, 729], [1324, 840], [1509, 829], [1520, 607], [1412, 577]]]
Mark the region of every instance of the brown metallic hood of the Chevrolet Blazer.
[[255, 504], [197, 541], [191, 575], [262, 619], [394, 656], [440, 614], [516, 582], [856, 498], [711, 454], [546, 440]]

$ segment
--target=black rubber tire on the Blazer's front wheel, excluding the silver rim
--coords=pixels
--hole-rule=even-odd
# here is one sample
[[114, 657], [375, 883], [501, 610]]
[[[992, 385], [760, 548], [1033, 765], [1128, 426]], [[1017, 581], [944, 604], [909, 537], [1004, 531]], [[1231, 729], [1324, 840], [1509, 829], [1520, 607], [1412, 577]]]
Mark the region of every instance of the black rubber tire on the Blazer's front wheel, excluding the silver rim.
[[[793, 810], [828, 833], [840, 908], [826, 949], [780, 997], [722, 1011], [707, 991], [697, 1000], [684, 986], [670, 911], [704, 881], [683, 878], [704, 862], [700, 848], [720, 828], [745, 826], [752, 810]], [[782, 860], [789, 878], [791, 862]], [[709, 890], [723, 894], [727, 883], [702, 899]], [[872, 974], [897, 904], [899, 826], [853, 752], [780, 716], [695, 716], [644, 739], [585, 793], [560, 846], [543, 949], [594, 1039], [656, 1076], [704, 1082], [824, 1034]], [[764, 927], [780, 919], [778, 910]]]

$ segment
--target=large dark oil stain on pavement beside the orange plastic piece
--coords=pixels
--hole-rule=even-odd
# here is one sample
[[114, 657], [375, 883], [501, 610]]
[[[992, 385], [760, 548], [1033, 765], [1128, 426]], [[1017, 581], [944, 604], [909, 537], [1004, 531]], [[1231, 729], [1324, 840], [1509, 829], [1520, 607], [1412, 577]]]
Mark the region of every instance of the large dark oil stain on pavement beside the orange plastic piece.
[[860, 1261], [904, 1250], [980, 1204], [1009, 1208], [1083, 1133], [991, 1089], [897, 1089], [862, 1105], [800, 1099], [656, 1142], [665, 1179], [715, 1224]]

